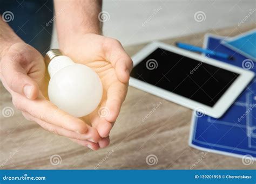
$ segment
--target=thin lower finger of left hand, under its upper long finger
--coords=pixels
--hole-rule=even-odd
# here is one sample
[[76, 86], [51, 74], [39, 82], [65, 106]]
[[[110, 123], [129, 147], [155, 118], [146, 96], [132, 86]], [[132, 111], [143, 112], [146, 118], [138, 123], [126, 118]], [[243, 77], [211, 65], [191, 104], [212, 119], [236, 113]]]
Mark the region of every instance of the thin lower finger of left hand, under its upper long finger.
[[45, 129], [51, 133], [54, 133], [56, 135], [73, 138], [73, 139], [78, 139], [78, 140], [89, 140], [90, 141], [90, 137], [87, 134], [80, 134], [77, 132], [73, 132], [73, 131], [69, 131], [69, 130], [60, 128], [59, 126], [52, 125], [50, 123], [42, 121], [41, 119], [35, 118], [35, 117], [31, 116], [28, 112], [23, 111], [22, 114], [29, 121], [35, 121], [37, 124], [42, 126], [43, 129]]

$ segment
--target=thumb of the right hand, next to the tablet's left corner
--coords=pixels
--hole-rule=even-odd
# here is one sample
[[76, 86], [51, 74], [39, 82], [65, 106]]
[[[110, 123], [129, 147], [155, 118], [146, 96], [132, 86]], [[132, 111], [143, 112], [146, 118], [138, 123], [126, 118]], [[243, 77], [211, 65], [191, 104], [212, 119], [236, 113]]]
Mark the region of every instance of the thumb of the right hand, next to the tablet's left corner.
[[116, 70], [118, 80], [124, 83], [128, 82], [133, 62], [122, 44], [118, 40], [105, 38], [103, 49], [105, 59], [110, 61]]

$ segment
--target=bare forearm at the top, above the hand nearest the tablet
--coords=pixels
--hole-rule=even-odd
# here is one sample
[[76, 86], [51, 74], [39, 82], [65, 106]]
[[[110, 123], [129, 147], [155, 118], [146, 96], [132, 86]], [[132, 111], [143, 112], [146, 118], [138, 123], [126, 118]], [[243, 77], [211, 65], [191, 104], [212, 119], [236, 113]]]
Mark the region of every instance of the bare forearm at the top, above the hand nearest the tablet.
[[55, 0], [55, 16], [60, 48], [72, 36], [86, 33], [102, 33], [98, 20], [102, 9], [101, 0]]

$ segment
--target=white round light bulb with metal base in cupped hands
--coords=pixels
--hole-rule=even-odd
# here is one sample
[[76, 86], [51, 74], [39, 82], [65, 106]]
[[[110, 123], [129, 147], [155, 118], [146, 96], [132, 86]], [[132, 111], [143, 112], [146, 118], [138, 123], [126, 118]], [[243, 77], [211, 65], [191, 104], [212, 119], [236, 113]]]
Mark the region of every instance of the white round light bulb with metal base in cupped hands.
[[86, 116], [97, 108], [103, 89], [95, 71], [73, 62], [59, 49], [48, 51], [45, 59], [50, 60], [48, 95], [53, 104], [75, 117]]

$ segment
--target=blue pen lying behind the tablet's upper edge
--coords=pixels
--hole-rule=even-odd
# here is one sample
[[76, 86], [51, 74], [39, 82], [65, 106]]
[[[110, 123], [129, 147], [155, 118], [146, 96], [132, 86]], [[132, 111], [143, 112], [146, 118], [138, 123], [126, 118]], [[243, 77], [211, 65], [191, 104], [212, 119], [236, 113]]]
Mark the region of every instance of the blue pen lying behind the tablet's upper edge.
[[230, 56], [228, 54], [225, 54], [225, 53], [215, 52], [215, 51], [212, 51], [212, 50], [209, 50], [209, 49], [204, 49], [204, 48], [197, 47], [197, 46], [194, 46], [194, 45], [179, 43], [179, 42], [177, 42], [176, 45], [177, 45], [177, 47], [186, 49], [188, 51], [201, 52], [201, 53], [205, 53], [205, 54], [214, 55], [214, 56], [217, 56], [219, 58], [233, 60], [232, 56]]

